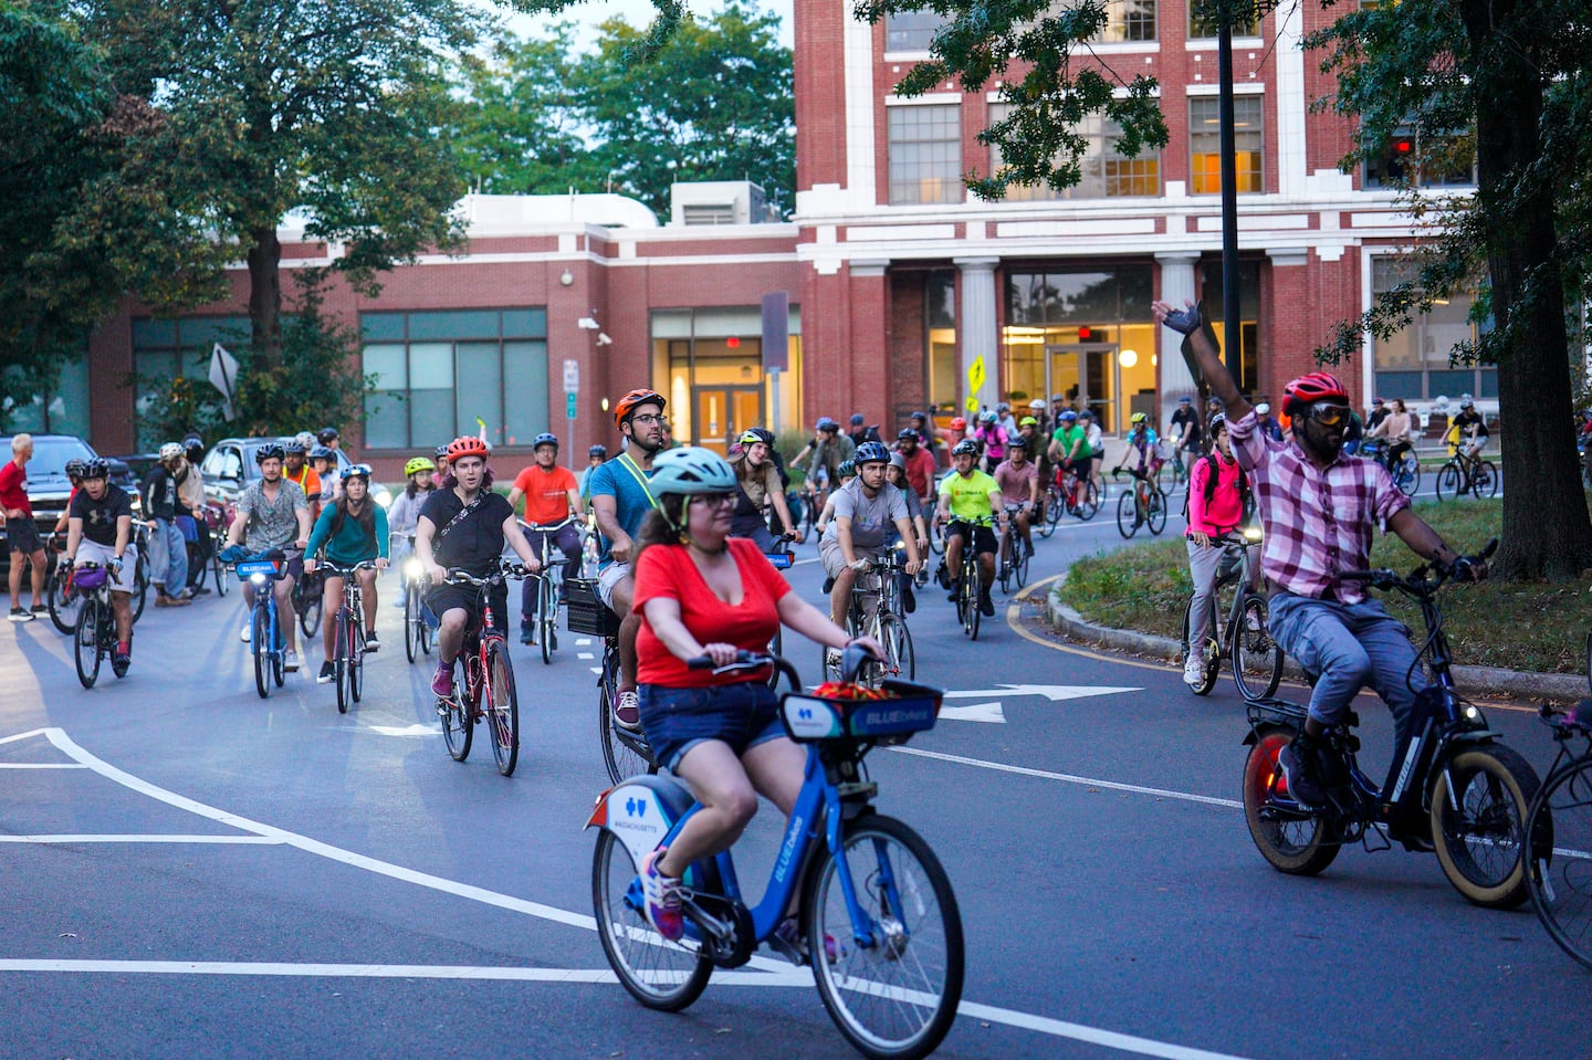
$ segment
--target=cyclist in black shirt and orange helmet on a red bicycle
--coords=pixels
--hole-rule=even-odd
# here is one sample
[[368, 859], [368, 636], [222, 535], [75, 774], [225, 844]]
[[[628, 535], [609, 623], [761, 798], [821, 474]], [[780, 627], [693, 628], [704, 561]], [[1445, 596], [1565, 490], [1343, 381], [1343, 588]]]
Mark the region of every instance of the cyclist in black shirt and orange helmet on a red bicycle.
[[[449, 474], [420, 508], [414, 533], [414, 551], [431, 576], [431, 589], [425, 595], [438, 616], [438, 662], [431, 691], [441, 697], [454, 694], [454, 659], [465, 646], [466, 630], [481, 621], [474, 586], [449, 586], [447, 568], [486, 578], [497, 571], [508, 544], [529, 571], [541, 570], [530, 541], [519, 532], [514, 506], [492, 492], [487, 444], [479, 438], [455, 438], [447, 446], [447, 463]], [[492, 614], [501, 622], [508, 616], [508, 586], [498, 583], [490, 592]]]

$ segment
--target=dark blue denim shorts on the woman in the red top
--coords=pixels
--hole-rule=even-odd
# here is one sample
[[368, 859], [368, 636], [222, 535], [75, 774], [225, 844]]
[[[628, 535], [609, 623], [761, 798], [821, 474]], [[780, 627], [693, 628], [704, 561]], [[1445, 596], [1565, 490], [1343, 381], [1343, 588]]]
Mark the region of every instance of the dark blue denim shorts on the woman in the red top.
[[642, 729], [659, 766], [677, 770], [685, 753], [697, 743], [720, 740], [736, 756], [785, 735], [778, 697], [763, 681], [736, 681], [713, 688], [667, 688], [643, 684], [640, 689]]

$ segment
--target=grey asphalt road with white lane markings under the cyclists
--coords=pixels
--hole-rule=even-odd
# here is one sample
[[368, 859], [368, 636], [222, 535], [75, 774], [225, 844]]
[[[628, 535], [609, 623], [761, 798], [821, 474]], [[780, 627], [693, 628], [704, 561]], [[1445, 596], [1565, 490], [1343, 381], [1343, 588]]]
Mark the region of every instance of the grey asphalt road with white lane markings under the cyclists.
[[[1063, 524], [1036, 578], [1119, 544], [1105, 514]], [[820, 578], [791, 571], [809, 598]], [[1237, 804], [1231, 680], [1196, 699], [1035, 613], [1009, 602], [970, 645], [925, 594], [919, 680], [955, 710], [869, 759], [879, 809], [928, 839], [962, 906], [965, 1001], [938, 1055], [1586, 1054], [1586, 972], [1528, 909], [1471, 907], [1403, 850], [1274, 872]], [[615, 985], [581, 831], [607, 780], [592, 645], [565, 635], [551, 667], [516, 646], [505, 780], [486, 746], [447, 758], [392, 608], [347, 716], [309, 667], [259, 700], [240, 624], [237, 594], [151, 608], [131, 675], [94, 691], [48, 622], [0, 629], [0, 1057], [853, 1055], [774, 958], [715, 972], [680, 1015]], [[817, 672], [817, 648], [793, 656]], [[1487, 710], [1544, 770], [1546, 731]], [[1361, 715], [1380, 766], [1387, 715]], [[739, 848], [753, 894], [774, 818]]]

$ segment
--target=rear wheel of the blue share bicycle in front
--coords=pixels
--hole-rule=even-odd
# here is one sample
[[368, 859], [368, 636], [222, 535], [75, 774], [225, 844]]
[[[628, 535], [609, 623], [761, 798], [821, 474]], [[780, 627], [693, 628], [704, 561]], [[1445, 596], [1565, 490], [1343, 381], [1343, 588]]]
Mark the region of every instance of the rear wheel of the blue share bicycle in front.
[[642, 912], [635, 861], [610, 831], [597, 832], [592, 852], [592, 910], [608, 966], [632, 998], [678, 1012], [702, 996], [713, 960], [697, 941], [670, 942], [653, 929]]

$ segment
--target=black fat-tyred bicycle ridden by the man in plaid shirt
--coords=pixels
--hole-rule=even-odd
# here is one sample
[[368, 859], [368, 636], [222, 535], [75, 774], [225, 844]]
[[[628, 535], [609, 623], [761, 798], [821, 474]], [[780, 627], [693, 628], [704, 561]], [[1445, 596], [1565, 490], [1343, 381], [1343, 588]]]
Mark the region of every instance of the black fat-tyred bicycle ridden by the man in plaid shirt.
[[[1481, 557], [1496, 546], [1492, 541]], [[1409, 731], [1395, 748], [1382, 786], [1360, 770], [1355, 759], [1360, 738], [1353, 734], [1358, 718], [1348, 711], [1323, 743], [1328, 804], [1318, 809], [1301, 804], [1288, 789], [1277, 758], [1304, 727], [1305, 708], [1280, 699], [1250, 702], [1243, 816], [1261, 856], [1280, 872], [1315, 875], [1333, 864], [1344, 844], [1387, 850], [1398, 840], [1406, 850], [1434, 850], [1449, 882], [1477, 906], [1512, 909], [1527, 899], [1525, 866], [1546, 856], [1551, 847], [1544, 842], [1546, 826], [1535, 831], [1527, 826], [1538, 780], [1532, 766], [1487, 727], [1482, 711], [1453, 688], [1452, 653], [1438, 608], [1438, 590], [1450, 576], [1452, 568], [1428, 567], [1407, 578], [1391, 570], [1340, 575], [1406, 594], [1420, 603], [1426, 625], [1426, 641], [1406, 681], [1415, 689], [1425, 659], [1431, 683], [1415, 689]]]

